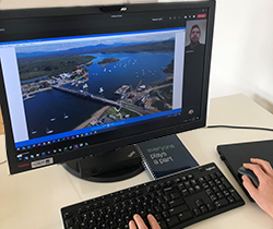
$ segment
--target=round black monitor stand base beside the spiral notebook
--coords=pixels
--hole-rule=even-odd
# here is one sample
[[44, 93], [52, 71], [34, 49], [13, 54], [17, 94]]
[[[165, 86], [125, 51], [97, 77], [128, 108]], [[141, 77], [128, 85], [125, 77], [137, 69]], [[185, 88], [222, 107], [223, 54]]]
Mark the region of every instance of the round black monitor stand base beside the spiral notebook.
[[71, 160], [62, 166], [73, 176], [95, 182], [121, 181], [143, 171], [141, 157], [134, 145]]

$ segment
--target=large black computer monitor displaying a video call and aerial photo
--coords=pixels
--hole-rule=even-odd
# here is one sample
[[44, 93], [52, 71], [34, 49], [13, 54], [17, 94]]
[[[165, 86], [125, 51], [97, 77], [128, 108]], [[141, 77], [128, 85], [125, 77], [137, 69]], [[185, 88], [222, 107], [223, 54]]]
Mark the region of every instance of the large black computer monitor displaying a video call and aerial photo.
[[204, 126], [214, 11], [214, 0], [2, 10], [10, 173], [67, 162], [88, 179], [81, 166], [110, 168], [117, 148]]

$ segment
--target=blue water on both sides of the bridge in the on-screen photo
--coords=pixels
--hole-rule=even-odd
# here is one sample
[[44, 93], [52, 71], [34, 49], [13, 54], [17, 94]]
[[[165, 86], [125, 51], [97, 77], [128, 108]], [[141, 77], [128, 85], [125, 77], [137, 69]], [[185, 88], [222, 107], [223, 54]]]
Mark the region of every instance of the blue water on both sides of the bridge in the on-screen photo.
[[[165, 81], [168, 74], [162, 68], [167, 68], [174, 59], [174, 52], [91, 55], [97, 59], [88, 67], [88, 92], [98, 95], [99, 87], [103, 87], [104, 93], [99, 95], [114, 100], [119, 98], [114, 94], [115, 91], [122, 85], [132, 85], [135, 89], [141, 80], [141, 85]], [[104, 67], [97, 64], [107, 57], [115, 57], [119, 61]], [[82, 85], [64, 86], [80, 91]], [[52, 130], [51, 134], [71, 131], [104, 106], [99, 101], [86, 100], [56, 89], [38, 93], [35, 98], [24, 101], [29, 138], [48, 135], [47, 130]], [[66, 114], [69, 118], [64, 119]], [[33, 131], [37, 132], [32, 134]]]

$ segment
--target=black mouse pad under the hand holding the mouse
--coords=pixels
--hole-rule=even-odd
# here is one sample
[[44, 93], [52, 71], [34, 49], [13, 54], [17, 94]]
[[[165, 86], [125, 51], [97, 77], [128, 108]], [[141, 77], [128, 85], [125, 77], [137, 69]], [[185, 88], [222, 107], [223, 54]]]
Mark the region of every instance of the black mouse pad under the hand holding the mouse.
[[221, 159], [226, 164], [227, 168], [248, 195], [249, 200], [253, 202], [241, 183], [238, 169], [244, 162], [249, 162], [251, 157], [268, 160], [271, 166], [273, 166], [273, 141], [218, 145], [217, 152]]

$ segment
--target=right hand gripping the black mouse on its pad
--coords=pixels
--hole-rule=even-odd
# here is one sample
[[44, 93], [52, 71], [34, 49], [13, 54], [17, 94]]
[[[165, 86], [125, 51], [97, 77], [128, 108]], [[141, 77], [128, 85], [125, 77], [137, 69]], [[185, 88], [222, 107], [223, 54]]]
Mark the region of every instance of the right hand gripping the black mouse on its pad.
[[251, 158], [250, 161], [252, 164], [242, 166], [254, 172], [260, 184], [254, 188], [247, 176], [242, 176], [242, 184], [256, 203], [273, 218], [273, 169], [265, 160]]

